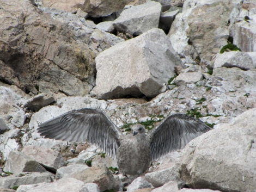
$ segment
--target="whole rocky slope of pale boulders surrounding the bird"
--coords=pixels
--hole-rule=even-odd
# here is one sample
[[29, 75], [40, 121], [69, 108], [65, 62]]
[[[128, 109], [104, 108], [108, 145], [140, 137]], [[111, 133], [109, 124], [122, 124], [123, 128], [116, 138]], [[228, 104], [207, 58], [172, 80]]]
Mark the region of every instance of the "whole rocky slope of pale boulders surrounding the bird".
[[214, 127], [127, 191], [256, 191], [253, 0], [0, 0], [0, 21], [0, 191], [124, 190], [96, 147], [37, 133], [80, 108], [124, 133], [174, 113]]

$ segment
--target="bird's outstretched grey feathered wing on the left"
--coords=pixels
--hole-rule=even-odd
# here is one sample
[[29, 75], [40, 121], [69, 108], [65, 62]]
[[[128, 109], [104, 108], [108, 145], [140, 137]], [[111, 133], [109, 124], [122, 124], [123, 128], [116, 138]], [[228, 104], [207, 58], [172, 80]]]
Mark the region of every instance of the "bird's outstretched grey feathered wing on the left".
[[45, 138], [65, 141], [88, 141], [115, 158], [122, 135], [114, 123], [100, 110], [71, 110], [39, 125]]

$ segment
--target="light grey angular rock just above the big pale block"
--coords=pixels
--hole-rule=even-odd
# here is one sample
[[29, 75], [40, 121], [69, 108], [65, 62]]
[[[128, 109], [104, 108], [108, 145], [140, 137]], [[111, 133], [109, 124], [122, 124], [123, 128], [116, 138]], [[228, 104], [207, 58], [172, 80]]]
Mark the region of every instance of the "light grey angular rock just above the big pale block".
[[113, 25], [119, 32], [140, 35], [159, 26], [161, 11], [160, 3], [148, 1], [123, 10]]

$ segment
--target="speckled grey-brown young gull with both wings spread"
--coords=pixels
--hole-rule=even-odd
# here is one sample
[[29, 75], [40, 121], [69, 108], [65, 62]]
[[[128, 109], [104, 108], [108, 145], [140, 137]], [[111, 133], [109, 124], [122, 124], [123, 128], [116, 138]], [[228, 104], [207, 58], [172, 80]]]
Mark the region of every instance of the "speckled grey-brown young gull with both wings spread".
[[185, 114], [167, 116], [146, 135], [145, 127], [136, 124], [132, 134], [123, 134], [99, 109], [75, 109], [41, 123], [38, 132], [44, 138], [94, 144], [117, 159], [119, 171], [127, 175], [144, 174], [152, 161], [180, 150], [192, 139], [212, 128]]

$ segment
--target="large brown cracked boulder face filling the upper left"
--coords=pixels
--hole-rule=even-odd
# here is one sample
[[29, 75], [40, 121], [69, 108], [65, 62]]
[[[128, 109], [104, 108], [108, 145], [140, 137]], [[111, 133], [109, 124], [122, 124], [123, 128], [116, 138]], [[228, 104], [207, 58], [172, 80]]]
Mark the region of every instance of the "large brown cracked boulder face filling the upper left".
[[29, 1], [3, 1], [1, 7], [0, 79], [33, 94], [88, 94], [95, 56], [87, 45]]

